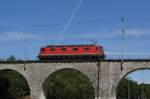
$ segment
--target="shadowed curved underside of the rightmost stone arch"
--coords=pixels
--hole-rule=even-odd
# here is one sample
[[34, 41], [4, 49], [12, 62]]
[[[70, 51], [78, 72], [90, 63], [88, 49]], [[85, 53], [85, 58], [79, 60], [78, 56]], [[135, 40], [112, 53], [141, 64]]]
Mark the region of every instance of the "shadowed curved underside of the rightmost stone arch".
[[[121, 85], [121, 82], [123, 81], [123, 79], [124, 79], [126, 76], [128, 76], [129, 74], [131, 74], [131, 73], [133, 73], [133, 72], [135, 72], [135, 71], [140, 71], [140, 70], [149, 70], [149, 71], [150, 71], [150, 68], [149, 68], [149, 67], [140, 67], [140, 68], [136, 68], [136, 69], [130, 70], [130, 71], [128, 71], [127, 73], [125, 73], [125, 74], [119, 79], [119, 81], [118, 81], [118, 83], [117, 83], [116, 86], [113, 86], [114, 88], [112, 88], [112, 89], [114, 89], [115, 92], [116, 92], [116, 99], [117, 99], [117, 92], [118, 92], [117, 90], [118, 90], [119, 86]], [[113, 93], [113, 90], [112, 90], [112, 93]]]

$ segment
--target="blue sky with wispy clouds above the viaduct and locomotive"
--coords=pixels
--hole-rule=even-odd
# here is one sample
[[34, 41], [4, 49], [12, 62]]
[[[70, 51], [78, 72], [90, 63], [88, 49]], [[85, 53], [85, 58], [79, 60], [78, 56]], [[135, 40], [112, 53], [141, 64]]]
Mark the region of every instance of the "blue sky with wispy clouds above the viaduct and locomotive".
[[91, 39], [106, 55], [120, 55], [122, 16], [125, 55], [150, 55], [149, 5], [149, 0], [0, 0], [0, 58], [23, 58], [25, 38], [28, 59], [48, 44], [91, 44]]

